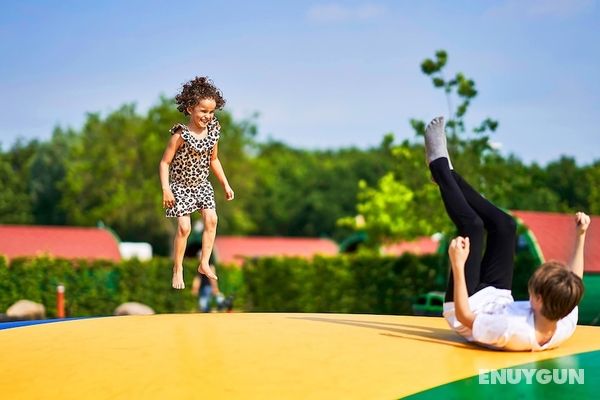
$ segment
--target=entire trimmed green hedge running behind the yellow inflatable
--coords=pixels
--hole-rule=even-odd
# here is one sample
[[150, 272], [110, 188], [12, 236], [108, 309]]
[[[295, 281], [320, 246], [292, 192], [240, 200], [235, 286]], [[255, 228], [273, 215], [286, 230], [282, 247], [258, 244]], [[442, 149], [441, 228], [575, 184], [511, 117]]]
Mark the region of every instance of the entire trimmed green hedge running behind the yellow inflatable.
[[[445, 290], [447, 256], [380, 257], [357, 254], [335, 257], [248, 259], [240, 269], [220, 266], [219, 286], [234, 295], [234, 307], [263, 312], [336, 312], [411, 314], [417, 295]], [[171, 289], [172, 260], [140, 262], [0, 257], [0, 312], [19, 299], [46, 306], [56, 316], [56, 286], [66, 288], [68, 316], [110, 315], [121, 303], [138, 301], [157, 313], [193, 312], [189, 290], [197, 262], [184, 263], [186, 290]], [[526, 298], [534, 260], [516, 259], [515, 297]]]

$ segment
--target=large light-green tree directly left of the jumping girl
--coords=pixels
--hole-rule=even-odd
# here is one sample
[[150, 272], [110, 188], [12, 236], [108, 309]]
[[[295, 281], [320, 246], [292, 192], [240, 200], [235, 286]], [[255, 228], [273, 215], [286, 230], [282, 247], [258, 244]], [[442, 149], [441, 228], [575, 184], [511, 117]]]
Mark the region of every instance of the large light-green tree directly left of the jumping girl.
[[61, 205], [70, 224], [103, 221], [121, 239], [148, 241], [163, 253], [169, 225], [161, 218], [156, 171], [161, 151], [157, 136], [165, 133], [144, 127], [133, 105], [122, 106], [105, 119], [88, 114], [67, 156]]

